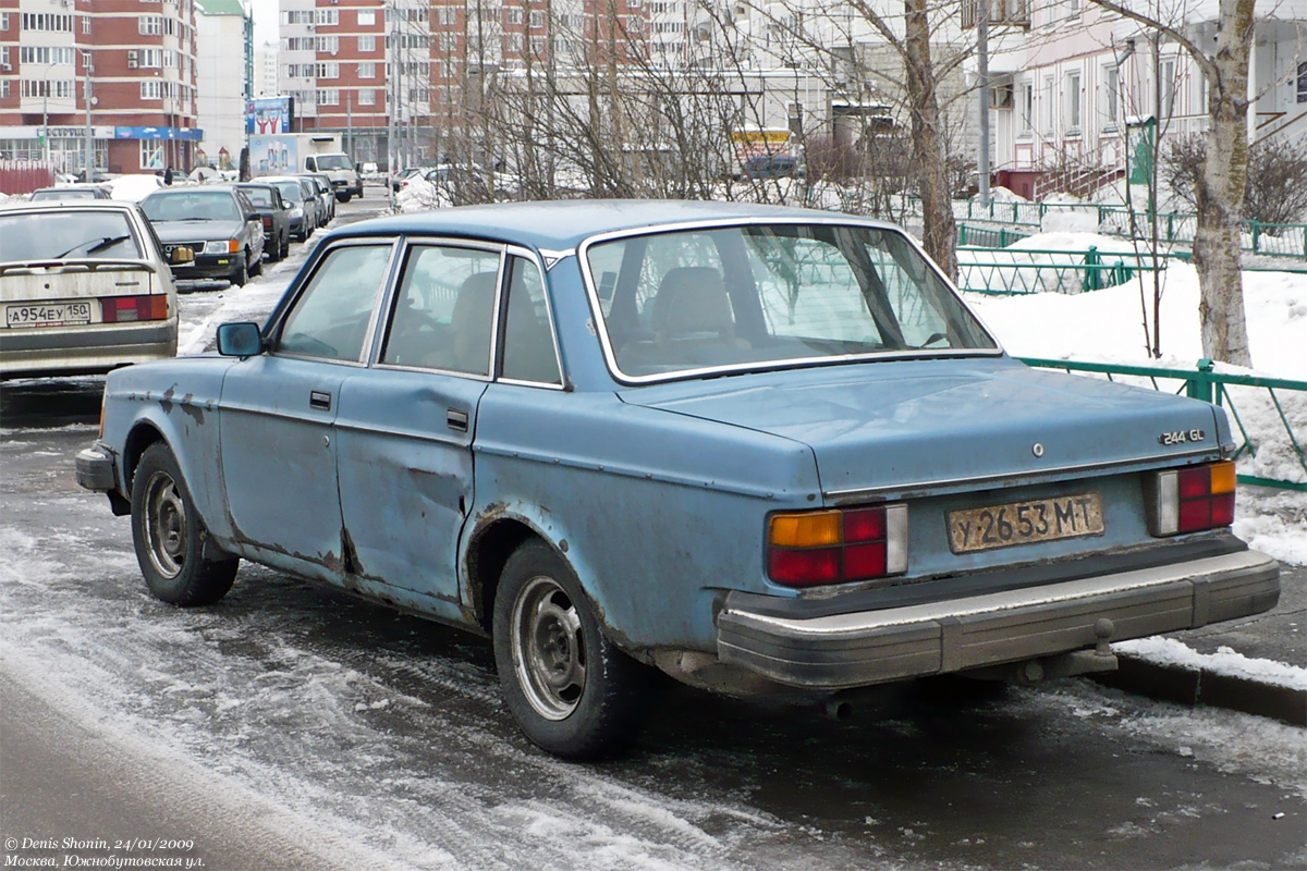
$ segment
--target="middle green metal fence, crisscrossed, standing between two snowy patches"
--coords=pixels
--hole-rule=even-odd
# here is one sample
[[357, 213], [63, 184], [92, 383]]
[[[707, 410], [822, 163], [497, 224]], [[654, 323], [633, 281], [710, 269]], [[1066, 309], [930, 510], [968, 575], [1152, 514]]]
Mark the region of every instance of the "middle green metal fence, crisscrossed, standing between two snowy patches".
[[975, 294], [1078, 294], [1124, 285], [1140, 273], [1165, 270], [1174, 257], [1131, 251], [958, 248], [958, 286]]

